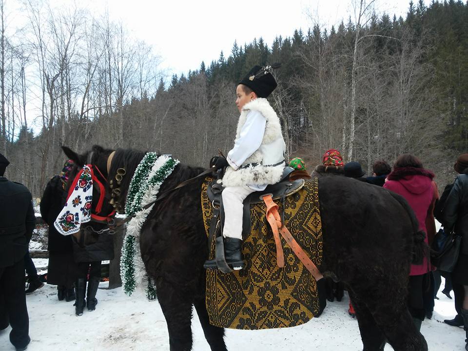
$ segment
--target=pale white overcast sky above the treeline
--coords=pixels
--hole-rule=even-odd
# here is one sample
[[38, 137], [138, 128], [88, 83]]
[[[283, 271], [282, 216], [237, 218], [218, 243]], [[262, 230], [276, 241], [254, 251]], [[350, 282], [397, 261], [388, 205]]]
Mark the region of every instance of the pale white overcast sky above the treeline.
[[[122, 20], [135, 37], [153, 46], [169, 74], [180, 75], [198, 69], [203, 60], [209, 65], [221, 50], [228, 57], [234, 40], [240, 45], [262, 37], [271, 45], [275, 36], [291, 37], [299, 28], [307, 32], [315, 22], [330, 28], [349, 16], [354, 20], [352, 4], [357, 1], [80, 0], [78, 4], [94, 14], [107, 9], [112, 20]], [[51, 1], [52, 6], [70, 3]], [[409, 0], [374, 4], [378, 13], [405, 18]]]

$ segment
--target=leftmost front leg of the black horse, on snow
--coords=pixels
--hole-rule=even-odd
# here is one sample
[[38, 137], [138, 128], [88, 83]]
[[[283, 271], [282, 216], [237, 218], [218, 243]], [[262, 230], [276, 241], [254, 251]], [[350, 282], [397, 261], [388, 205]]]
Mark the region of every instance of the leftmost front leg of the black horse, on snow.
[[176, 287], [156, 280], [157, 300], [167, 322], [170, 351], [192, 350], [192, 301]]

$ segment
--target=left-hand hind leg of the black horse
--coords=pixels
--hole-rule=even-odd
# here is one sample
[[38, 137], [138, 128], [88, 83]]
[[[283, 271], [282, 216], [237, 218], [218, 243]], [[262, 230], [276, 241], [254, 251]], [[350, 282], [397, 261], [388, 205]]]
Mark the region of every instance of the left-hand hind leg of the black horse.
[[370, 313], [366, 304], [356, 296], [350, 288], [348, 293], [351, 298], [352, 306], [356, 311], [357, 323], [361, 332], [364, 351], [382, 351], [384, 350], [385, 336], [375, 323], [372, 313]]

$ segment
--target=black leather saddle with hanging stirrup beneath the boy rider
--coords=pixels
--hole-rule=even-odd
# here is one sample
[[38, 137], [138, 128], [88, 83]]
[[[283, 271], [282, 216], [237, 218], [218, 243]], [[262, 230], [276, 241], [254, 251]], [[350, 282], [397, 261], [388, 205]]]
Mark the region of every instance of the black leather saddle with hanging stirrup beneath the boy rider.
[[[289, 180], [289, 175], [294, 171], [292, 167], [285, 167], [281, 180], [276, 184], [268, 185], [263, 191], [254, 192], [246, 197], [244, 200], [244, 211], [242, 215], [242, 237], [246, 237], [251, 231], [251, 212], [250, 206], [252, 204], [264, 202], [264, 197], [269, 196], [273, 200], [281, 201], [282, 212], [280, 214], [281, 222], [284, 222], [284, 202], [288, 196], [297, 193], [304, 186], [304, 179]], [[224, 259], [224, 242], [222, 238], [222, 228], [224, 224], [224, 208], [222, 204], [222, 191], [221, 184], [222, 171], [216, 173], [216, 179], [208, 184], [207, 196], [213, 206], [213, 217], [210, 222], [208, 245], [211, 247], [213, 239], [216, 244], [216, 264], [219, 270], [223, 273], [232, 272], [231, 268], [227, 265]]]

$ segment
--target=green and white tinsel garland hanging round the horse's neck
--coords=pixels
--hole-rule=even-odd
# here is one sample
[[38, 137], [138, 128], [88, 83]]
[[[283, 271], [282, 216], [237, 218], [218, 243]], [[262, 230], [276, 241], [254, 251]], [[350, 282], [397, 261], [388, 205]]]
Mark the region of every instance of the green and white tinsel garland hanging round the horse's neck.
[[155, 153], [147, 153], [143, 157], [130, 182], [128, 193], [131, 196], [127, 199], [126, 212], [127, 215], [135, 214], [135, 216], [128, 223], [120, 259], [120, 274], [125, 293], [131, 295], [137, 286], [146, 280], [148, 282], [146, 293], [149, 299], [155, 298], [155, 289], [152, 280], [146, 275], [141, 259], [139, 238], [141, 227], [154, 204], [146, 210], [142, 207], [156, 200], [161, 184], [179, 163], [170, 156], [155, 157], [155, 155]]

